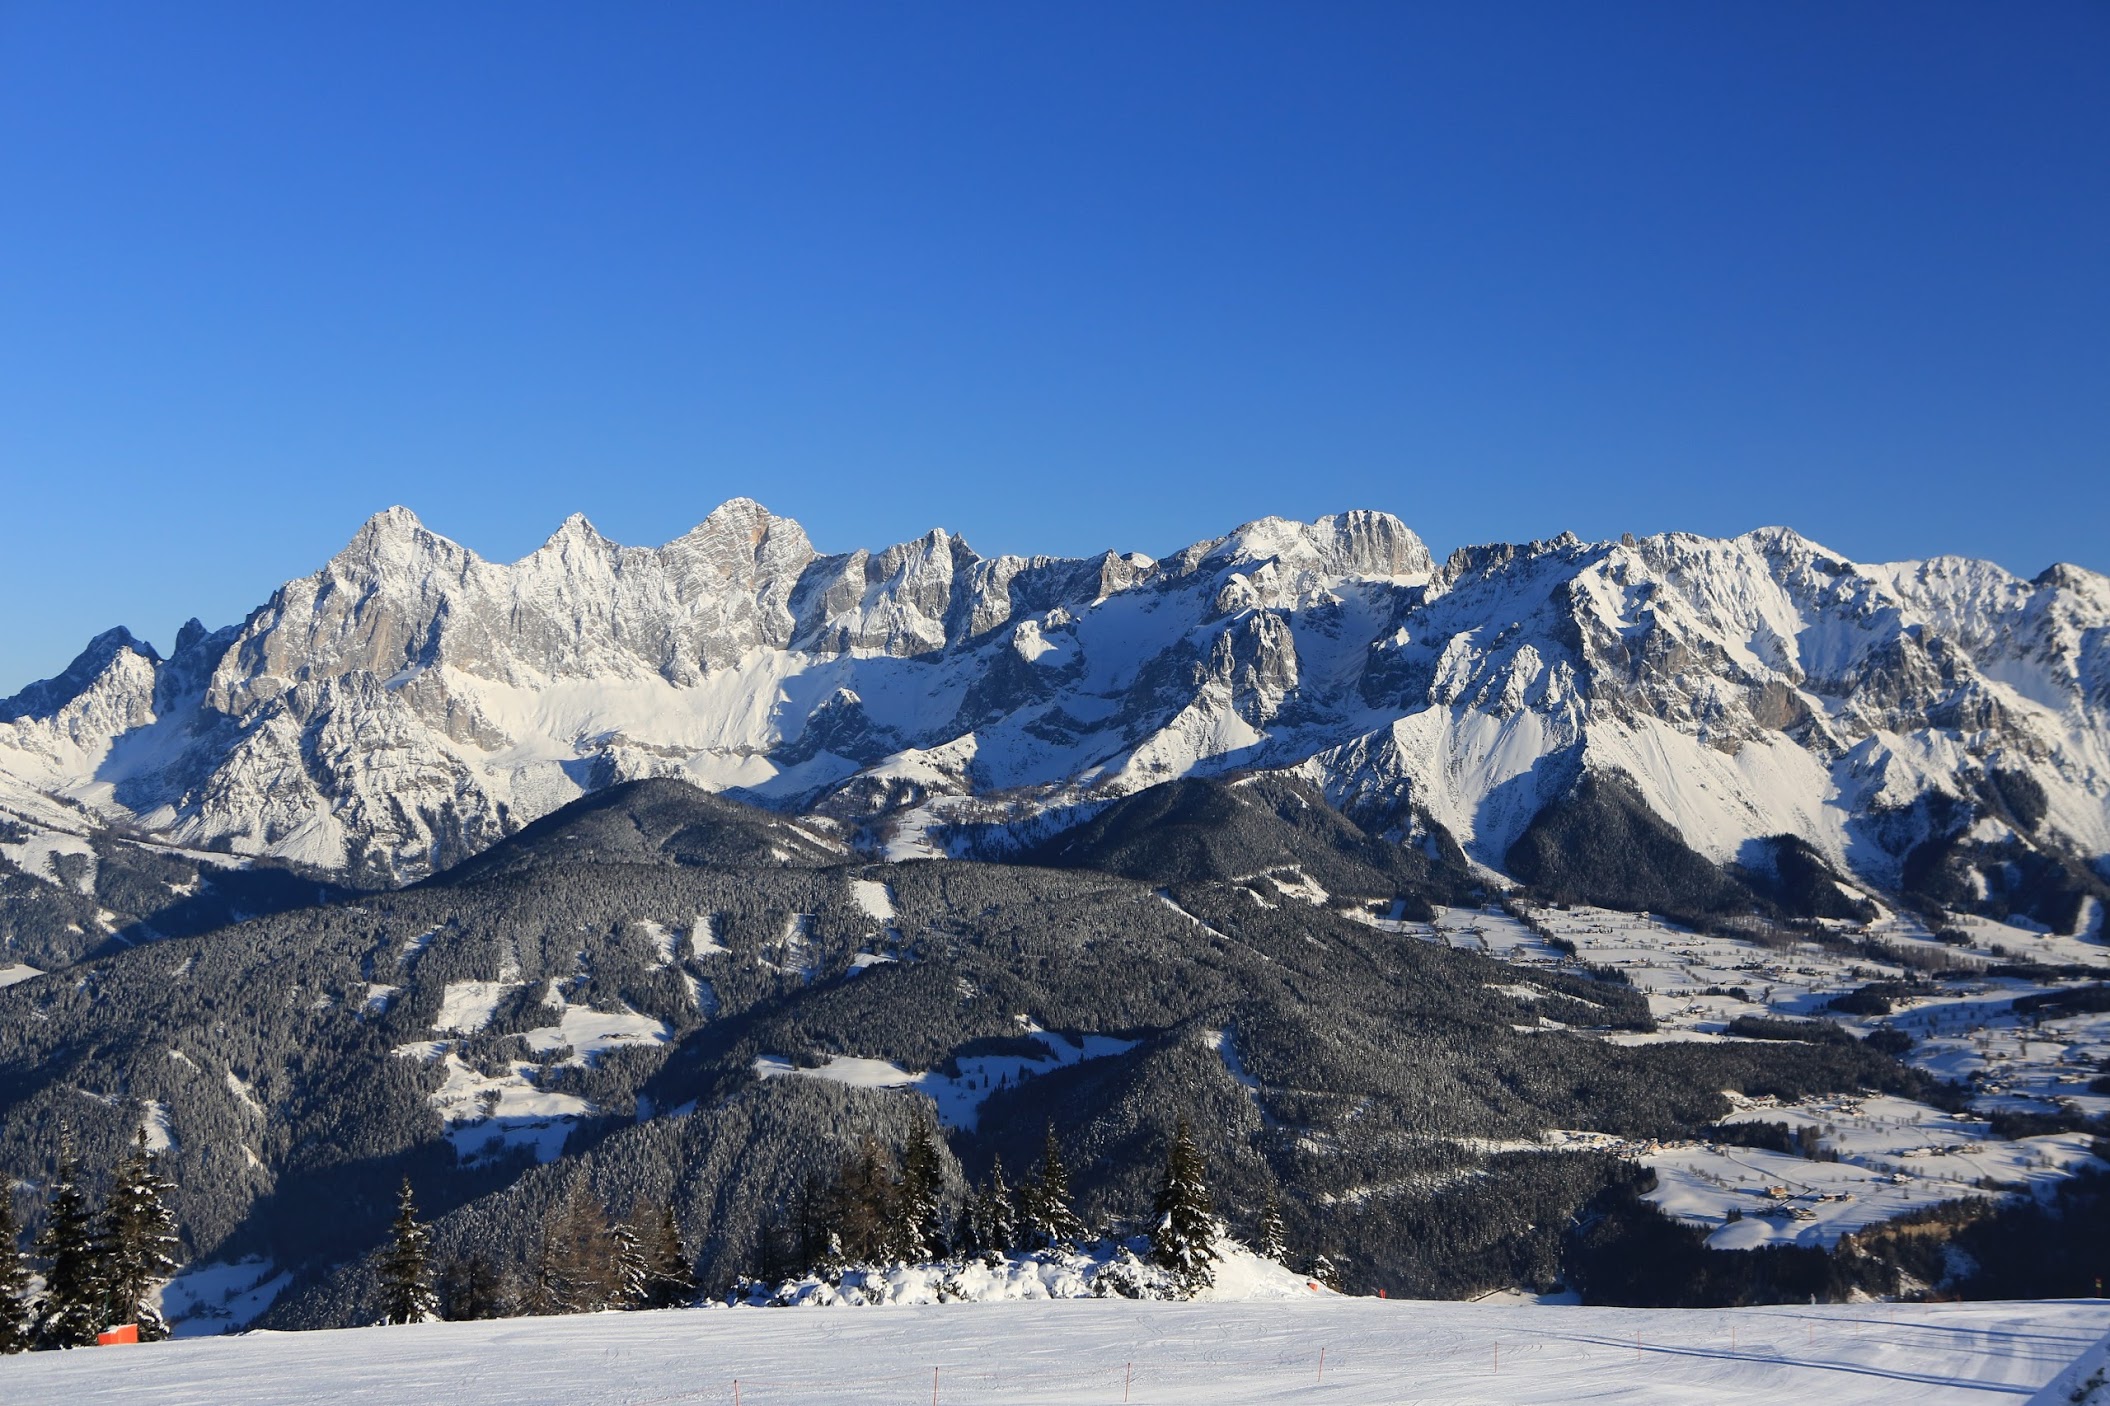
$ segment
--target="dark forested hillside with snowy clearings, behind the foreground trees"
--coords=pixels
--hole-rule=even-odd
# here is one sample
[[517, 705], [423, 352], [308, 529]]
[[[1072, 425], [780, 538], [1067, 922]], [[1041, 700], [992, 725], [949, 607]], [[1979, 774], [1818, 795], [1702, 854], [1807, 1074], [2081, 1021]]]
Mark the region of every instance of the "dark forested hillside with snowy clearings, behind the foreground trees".
[[[945, 1119], [954, 1210], [1053, 1125], [1097, 1231], [1148, 1212], [1186, 1117], [1232, 1227], [1272, 1193], [1348, 1288], [1466, 1294], [1561, 1279], [1572, 1222], [1631, 1195], [1612, 1157], [1521, 1151], [1549, 1127], [1692, 1136], [1726, 1089], [1941, 1096], [1853, 1039], [1608, 1043], [1652, 1028], [1631, 986], [1519, 984], [1348, 912], [1447, 897], [1464, 878], [1441, 857], [1359, 857], [1338, 815], [1283, 821], [1289, 792], [1169, 800], [1150, 819], [1253, 813], [1192, 842], [1116, 815], [1055, 853], [1101, 847], [1150, 882], [869, 866], [684, 783], [603, 792], [411, 889], [0, 992], [0, 1165], [34, 1222], [61, 1123], [99, 1167], [146, 1121], [186, 1252], [293, 1271], [266, 1322], [327, 1326], [376, 1315], [405, 1176], [441, 1258], [525, 1267], [584, 1186], [671, 1205], [724, 1288], [802, 1189], [867, 1134], [899, 1146], [918, 1108]], [[1317, 901], [1312, 872], [1359, 897]]]

